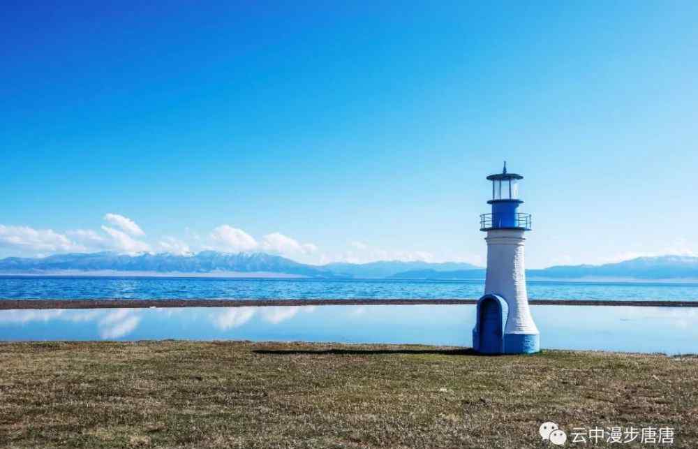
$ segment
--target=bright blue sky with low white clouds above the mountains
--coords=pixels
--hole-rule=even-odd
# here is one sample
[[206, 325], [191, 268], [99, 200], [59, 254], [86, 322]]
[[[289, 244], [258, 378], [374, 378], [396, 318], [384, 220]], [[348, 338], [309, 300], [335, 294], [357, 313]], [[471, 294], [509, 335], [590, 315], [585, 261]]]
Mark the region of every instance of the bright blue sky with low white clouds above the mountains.
[[695, 2], [32, 3], [0, 256], [484, 263], [505, 159], [530, 267], [698, 252]]

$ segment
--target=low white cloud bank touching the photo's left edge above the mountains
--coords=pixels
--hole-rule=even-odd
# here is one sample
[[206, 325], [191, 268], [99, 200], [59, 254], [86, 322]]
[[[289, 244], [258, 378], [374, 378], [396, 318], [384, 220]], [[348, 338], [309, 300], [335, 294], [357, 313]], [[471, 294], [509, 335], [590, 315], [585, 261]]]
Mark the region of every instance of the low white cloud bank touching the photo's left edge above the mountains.
[[24, 251], [86, 251], [66, 235], [51, 229], [34, 229], [29, 226], [4, 226], [0, 224], [0, 246]]

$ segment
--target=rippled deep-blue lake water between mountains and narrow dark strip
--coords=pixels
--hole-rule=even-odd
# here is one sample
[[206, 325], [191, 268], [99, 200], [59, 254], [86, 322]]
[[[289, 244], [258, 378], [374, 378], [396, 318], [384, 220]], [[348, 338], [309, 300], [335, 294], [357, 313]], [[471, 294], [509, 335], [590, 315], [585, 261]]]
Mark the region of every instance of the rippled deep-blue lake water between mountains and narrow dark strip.
[[[473, 298], [482, 281], [0, 277], [0, 297], [53, 298]], [[698, 284], [528, 281], [531, 299], [698, 301]]]

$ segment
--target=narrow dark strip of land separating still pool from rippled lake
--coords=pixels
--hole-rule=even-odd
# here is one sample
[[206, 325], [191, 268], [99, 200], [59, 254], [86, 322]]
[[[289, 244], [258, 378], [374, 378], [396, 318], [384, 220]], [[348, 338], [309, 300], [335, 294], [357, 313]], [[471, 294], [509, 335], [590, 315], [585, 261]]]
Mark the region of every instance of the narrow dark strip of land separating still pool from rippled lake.
[[[531, 305], [551, 306], [610, 306], [610, 307], [698, 307], [698, 301], [658, 300], [529, 300]], [[0, 310], [35, 309], [148, 309], [172, 307], [299, 307], [299, 306], [413, 306], [413, 305], [473, 305], [474, 299], [311, 299], [311, 300], [10, 300], [0, 299]]]

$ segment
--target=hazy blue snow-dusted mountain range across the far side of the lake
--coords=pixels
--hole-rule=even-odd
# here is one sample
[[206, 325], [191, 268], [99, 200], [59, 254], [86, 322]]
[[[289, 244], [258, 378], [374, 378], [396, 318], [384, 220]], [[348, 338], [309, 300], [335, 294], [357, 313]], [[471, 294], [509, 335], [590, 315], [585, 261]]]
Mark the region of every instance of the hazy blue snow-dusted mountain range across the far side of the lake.
[[[170, 253], [70, 253], [44, 258], [0, 260], [0, 274], [145, 274], [220, 275], [242, 277], [314, 277], [364, 279], [484, 279], [484, 268], [469, 263], [428, 263], [383, 260], [371, 263], [306, 265], [267, 253], [202, 251], [180, 256]], [[698, 257], [658, 256], [604, 265], [560, 265], [527, 270], [544, 279], [698, 279]]]

